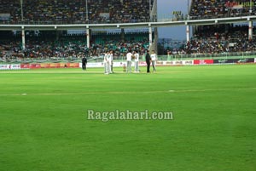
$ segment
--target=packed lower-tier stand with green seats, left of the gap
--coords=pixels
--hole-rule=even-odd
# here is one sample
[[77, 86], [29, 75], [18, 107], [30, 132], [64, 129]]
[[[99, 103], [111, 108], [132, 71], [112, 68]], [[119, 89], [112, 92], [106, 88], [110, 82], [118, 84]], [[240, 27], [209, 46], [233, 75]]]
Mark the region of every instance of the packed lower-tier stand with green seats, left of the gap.
[[108, 50], [113, 50], [114, 56], [125, 55], [128, 49], [138, 50], [143, 54], [148, 49], [148, 32], [125, 33], [124, 39], [120, 33], [92, 34], [91, 48], [87, 48], [84, 34], [67, 33], [56, 36], [52, 31], [46, 33], [26, 32], [26, 49], [22, 50], [20, 33], [1, 37], [0, 58], [76, 58], [84, 55], [100, 56]]

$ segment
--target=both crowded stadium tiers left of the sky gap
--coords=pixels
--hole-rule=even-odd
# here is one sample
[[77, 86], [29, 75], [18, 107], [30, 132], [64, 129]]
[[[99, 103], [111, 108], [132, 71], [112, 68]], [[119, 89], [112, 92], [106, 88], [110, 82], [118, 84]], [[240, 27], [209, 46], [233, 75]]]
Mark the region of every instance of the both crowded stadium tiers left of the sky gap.
[[[154, 0], [151, 3], [153, 5]], [[0, 4], [0, 24], [133, 23], [148, 21], [148, 9], [149, 4], [145, 0], [3, 0]], [[128, 48], [143, 52], [149, 46], [148, 31], [125, 33], [125, 37], [117, 32], [92, 31], [90, 48], [86, 46], [85, 33], [35, 32], [26, 31], [26, 47], [22, 49], [20, 31], [0, 31], [0, 58], [81, 58], [86, 54], [84, 52], [100, 55], [108, 49], [112, 49], [115, 55], [121, 55]]]

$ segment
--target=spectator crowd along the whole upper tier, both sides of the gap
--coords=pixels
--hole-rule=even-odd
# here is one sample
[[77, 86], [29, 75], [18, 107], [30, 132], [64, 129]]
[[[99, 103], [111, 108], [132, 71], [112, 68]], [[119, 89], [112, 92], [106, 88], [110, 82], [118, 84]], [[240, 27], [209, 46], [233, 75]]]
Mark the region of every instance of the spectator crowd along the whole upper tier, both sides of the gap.
[[[21, 3], [22, 2], [22, 3]], [[87, 5], [86, 5], [87, 2]], [[149, 20], [148, 0], [2, 0], [0, 23], [80, 24]], [[254, 1], [191, 0], [190, 20], [255, 15]]]

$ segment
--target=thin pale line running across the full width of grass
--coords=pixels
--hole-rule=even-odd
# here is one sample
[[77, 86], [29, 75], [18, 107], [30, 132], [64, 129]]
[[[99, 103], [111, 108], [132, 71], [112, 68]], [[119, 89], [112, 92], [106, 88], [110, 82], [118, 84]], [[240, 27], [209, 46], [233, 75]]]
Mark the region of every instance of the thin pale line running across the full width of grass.
[[[212, 88], [212, 89], [170, 89], [162, 91], [143, 91], [140, 94], [174, 94], [174, 93], [188, 93], [188, 92], [210, 92], [210, 91], [244, 91], [256, 90], [256, 88]], [[107, 91], [107, 92], [67, 92], [67, 93], [32, 93], [32, 94], [0, 94], [0, 96], [27, 96], [27, 95], [74, 95], [74, 94], [137, 94], [138, 92], [131, 91]]]

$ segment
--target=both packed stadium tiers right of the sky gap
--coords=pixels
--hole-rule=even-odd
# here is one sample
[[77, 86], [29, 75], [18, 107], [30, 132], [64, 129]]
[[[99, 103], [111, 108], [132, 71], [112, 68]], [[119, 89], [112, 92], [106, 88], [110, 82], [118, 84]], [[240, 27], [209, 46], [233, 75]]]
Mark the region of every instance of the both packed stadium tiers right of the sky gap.
[[[190, 20], [237, 17], [256, 14], [256, 7], [247, 0], [192, 0]], [[185, 54], [221, 54], [255, 51], [248, 40], [248, 26], [198, 26], [193, 38], [180, 50]]]

